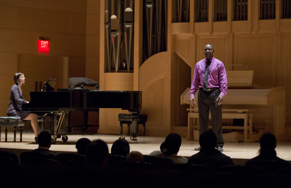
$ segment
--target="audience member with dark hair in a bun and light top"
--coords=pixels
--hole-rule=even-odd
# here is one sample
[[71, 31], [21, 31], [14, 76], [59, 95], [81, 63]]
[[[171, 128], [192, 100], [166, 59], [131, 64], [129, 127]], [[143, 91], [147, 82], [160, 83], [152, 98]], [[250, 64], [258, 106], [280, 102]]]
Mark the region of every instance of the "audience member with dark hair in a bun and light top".
[[187, 163], [187, 159], [185, 157], [177, 156], [181, 143], [182, 140], [179, 134], [170, 133], [166, 137], [165, 142], [161, 144], [160, 151], [153, 151], [149, 155], [166, 157], [172, 159], [174, 163]]

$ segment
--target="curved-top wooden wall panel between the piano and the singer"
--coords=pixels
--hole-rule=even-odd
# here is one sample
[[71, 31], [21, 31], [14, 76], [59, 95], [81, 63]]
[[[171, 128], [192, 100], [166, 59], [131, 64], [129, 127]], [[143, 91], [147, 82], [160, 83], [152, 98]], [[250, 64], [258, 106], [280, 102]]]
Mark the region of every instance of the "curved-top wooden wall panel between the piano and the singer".
[[171, 101], [169, 62], [169, 52], [160, 52], [147, 59], [139, 69], [139, 90], [143, 92], [141, 113], [149, 113], [146, 135], [170, 133], [170, 108], [176, 106], [176, 100]]

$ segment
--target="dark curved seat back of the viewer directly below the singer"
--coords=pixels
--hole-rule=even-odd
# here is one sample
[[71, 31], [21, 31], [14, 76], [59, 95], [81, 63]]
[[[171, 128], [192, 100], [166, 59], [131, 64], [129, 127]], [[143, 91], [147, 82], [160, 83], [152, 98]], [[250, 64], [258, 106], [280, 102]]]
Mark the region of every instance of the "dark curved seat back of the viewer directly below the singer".
[[216, 159], [216, 158], [197, 158], [197, 159], [189, 159], [188, 163], [192, 164], [202, 164], [206, 165], [210, 168], [210, 170], [216, 171], [219, 167], [229, 165], [225, 160]]

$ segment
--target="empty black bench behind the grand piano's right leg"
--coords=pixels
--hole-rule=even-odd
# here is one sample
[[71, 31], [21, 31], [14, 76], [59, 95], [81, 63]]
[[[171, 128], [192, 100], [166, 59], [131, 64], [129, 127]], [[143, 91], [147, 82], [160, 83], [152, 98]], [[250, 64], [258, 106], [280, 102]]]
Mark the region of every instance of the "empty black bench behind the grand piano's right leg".
[[[132, 124], [131, 121], [132, 115], [131, 114], [118, 114], [118, 120], [120, 121], [120, 134], [122, 134], [122, 124], [127, 124], [127, 134], [129, 134], [129, 125]], [[146, 133], [146, 120], [148, 119], [148, 115], [146, 114], [139, 114], [139, 121], [137, 125], [142, 124], [142, 134], [145, 135]], [[138, 127], [136, 132], [138, 132]]]

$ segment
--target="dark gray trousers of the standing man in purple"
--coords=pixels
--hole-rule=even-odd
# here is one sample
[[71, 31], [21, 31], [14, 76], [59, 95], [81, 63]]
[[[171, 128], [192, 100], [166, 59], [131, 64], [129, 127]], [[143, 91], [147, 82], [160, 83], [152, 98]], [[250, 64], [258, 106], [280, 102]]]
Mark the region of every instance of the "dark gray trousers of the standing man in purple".
[[222, 104], [218, 105], [216, 101], [220, 94], [220, 90], [198, 92], [198, 112], [199, 112], [199, 136], [208, 131], [209, 109], [212, 119], [212, 132], [216, 135], [217, 146], [223, 147], [224, 141], [222, 137]]

